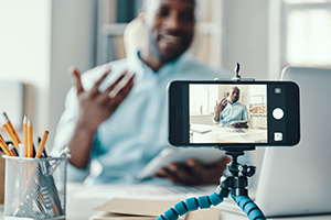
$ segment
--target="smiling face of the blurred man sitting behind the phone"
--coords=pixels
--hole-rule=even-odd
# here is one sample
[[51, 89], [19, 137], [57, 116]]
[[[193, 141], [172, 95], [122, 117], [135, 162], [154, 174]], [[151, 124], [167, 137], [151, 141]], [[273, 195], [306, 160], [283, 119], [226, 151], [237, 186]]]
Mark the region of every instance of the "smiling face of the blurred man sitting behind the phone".
[[178, 58], [192, 42], [195, 25], [194, 0], [149, 1], [146, 23], [149, 51], [162, 62]]

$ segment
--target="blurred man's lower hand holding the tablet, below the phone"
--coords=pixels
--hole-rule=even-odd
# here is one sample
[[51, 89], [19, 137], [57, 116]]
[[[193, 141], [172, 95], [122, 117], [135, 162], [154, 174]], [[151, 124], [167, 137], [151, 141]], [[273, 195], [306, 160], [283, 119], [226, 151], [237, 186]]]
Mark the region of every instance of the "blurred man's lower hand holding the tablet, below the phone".
[[160, 168], [154, 177], [169, 178], [175, 184], [188, 186], [220, 184], [223, 170], [229, 162], [231, 158], [227, 156], [222, 157], [216, 164], [209, 165], [189, 158], [185, 164], [171, 163], [168, 167]]

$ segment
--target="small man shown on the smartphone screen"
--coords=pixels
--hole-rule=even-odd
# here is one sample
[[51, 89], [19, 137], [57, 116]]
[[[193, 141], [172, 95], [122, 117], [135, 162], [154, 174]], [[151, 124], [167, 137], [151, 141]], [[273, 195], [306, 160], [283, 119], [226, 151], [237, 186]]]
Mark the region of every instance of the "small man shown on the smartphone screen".
[[213, 118], [214, 124], [220, 124], [220, 127], [248, 128], [247, 108], [245, 105], [238, 102], [239, 97], [241, 89], [233, 87], [227, 98], [223, 98], [218, 103], [216, 101]]

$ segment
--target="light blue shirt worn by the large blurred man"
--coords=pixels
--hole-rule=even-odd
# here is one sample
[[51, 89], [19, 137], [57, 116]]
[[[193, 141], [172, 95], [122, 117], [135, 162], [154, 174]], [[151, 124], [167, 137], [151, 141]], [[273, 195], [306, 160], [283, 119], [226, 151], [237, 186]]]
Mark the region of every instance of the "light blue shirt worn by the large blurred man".
[[[68, 180], [83, 182], [89, 174], [93, 183], [132, 182], [135, 176], [168, 143], [167, 85], [172, 80], [213, 80], [229, 78], [224, 69], [211, 67], [182, 55], [174, 62], [163, 65], [158, 73], [149, 68], [139, 53], [128, 58], [106, 64], [111, 73], [99, 87], [104, 91], [124, 69], [136, 73], [135, 86], [113, 116], [104, 121], [94, 136], [90, 161], [102, 167], [98, 174], [90, 174], [89, 166], [78, 169], [68, 165]], [[97, 66], [82, 75], [85, 90], [90, 89], [105, 73]], [[53, 153], [68, 143], [78, 117], [76, 88], [71, 88], [57, 125]], [[92, 177], [93, 176], [93, 177]]]

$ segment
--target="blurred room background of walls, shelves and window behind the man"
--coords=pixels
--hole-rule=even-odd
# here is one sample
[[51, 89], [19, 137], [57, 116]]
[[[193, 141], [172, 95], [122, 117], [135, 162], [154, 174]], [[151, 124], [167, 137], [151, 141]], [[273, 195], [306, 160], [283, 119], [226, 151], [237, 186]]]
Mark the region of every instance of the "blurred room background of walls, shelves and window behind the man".
[[[122, 33], [142, 0], [0, 0], [0, 111], [18, 131], [23, 114], [51, 150], [82, 73], [126, 57]], [[330, 0], [199, 0], [196, 58], [246, 78], [279, 79], [285, 66], [331, 66]], [[4, 135], [3, 130], [0, 130]], [[4, 135], [6, 136], [6, 135]]]

